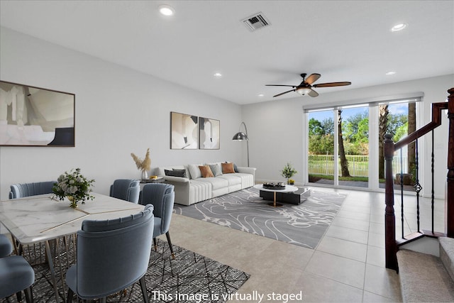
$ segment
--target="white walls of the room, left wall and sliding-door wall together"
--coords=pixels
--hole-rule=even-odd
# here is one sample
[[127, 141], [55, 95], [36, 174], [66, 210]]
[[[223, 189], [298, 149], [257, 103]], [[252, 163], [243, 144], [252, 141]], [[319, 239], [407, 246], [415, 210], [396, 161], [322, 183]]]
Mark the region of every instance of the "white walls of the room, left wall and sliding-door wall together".
[[[96, 192], [106, 194], [116, 178], [140, 176], [130, 153], [143, 157], [147, 148], [153, 167], [217, 160], [245, 165], [245, 143], [231, 141], [241, 121], [248, 126], [250, 166], [258, 168], [257, 179], [282, 180], [279, 170], [286, 162], [303, 171], [303, 106], [423, 92], [427, 123], [430, 104], [444, 101], [454, 86], [454, 75], [447, 75], [341, 92], [320, 89], [317, 98], [239, 106], [6, 28], [0, 28], [0, 79], [76, 94], [76, 147], [0, 147], [0, 199], [7, 199], [10, 184], [53, 180], [73, 167], [81, 167], [96, 180]], [[221, 149], [170, 150], [170, 111], [220, 120]], [[443, 119], [436, 130], [438, 197], [444, 196], [446, 176], [448, 126]], [[294, 179], [301, 183], [303, 176]]]

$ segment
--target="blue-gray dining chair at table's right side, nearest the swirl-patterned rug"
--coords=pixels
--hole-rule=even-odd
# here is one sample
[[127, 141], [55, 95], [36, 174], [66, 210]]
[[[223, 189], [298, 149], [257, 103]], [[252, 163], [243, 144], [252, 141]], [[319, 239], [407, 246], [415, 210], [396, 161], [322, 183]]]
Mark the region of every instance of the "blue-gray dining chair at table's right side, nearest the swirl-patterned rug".
[[170, 220], [172, 219], [175, 191], [172, 184], [149, 183], [145, 184], [140, 194], [140, 204], [153, 204], [155, 210], [155, 230], [153, 231], [153, 244], [156, 247], [156, 237], [165, 233], [169, 243], [172, 258], [175, 258], [172, 241], [170, 241]]

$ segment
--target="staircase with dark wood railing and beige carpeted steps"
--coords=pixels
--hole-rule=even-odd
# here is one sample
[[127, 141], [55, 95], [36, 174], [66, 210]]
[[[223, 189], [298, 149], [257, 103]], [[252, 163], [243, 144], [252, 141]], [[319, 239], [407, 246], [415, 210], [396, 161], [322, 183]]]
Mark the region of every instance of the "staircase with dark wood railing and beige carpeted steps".
[[[454, 87], [448, 89], [448, 102], [432, 104], [432, 121], [409, 134], [401, 141], [394, 143], [392, 136], [385, 135], [384, 140], [384, 159], [386, 172], [385, 185], [385, 214], [384, 214], [384, 241], [385, 241], [385, 263], [386, 268], [394, 269], [399, 272], [402, 299], [404, 302], [454, 302]], [[445, 231], [434, 230], [434, 194], [433, 194], [433, 175], [442, 172], [434, 172], [434, 135], [433, 129], [441, 125], [441, 115], [443, 110], [448, 110], [448, 161], [446, 174], [446, 194], [445, 194]], [[432, 199], [431, 199], [431, 230], [420, 229], [419, 217], [419, 192], [422, 189], [419, 184], [418, 168], [418, 141], [419, 138], [432, 133]], [[439, 138], [438, 140], [444, 140]], [[401, 205], [400, 219], [402, 221], [402, 233], [400, 238], [396, 238], [396, 219], [394, 211], [394, 180], [392, 176], [392, 160], [394, 152], [402, 149], [405, 145], [415, 143], [416, 145], [416, 223], [417, 231], [409, 235], [404, 235], [404, 191], [403, 185], [399, 197]], [[402, 157], [402, 153], [401, 153]], [[401, 174], [403, 175], [403, 174]], [[400, 184], [403, 184], [402, 178]], [[411, 243], [423, 241], [427, 237], [436, 239], [439, 248], [438, 253], [420, 253], [410, 248]], [[424, 244], [426, 245], [426, 244]], [[438, 249], [437, 249], [438, 251]]]

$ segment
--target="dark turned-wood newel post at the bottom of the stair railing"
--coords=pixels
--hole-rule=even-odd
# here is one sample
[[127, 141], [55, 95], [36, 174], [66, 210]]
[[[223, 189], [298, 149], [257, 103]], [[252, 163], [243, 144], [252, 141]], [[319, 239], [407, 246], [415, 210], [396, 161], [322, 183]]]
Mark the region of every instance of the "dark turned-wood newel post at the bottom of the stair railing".
[[384, 135], [384, 250], [386, 268], [397, 270], [397, 244], [396, 244], [396, 215], [394, 214], [394, 181], [392, 177], [392, 158], [394, 158], [394, 142], [392, 135]]

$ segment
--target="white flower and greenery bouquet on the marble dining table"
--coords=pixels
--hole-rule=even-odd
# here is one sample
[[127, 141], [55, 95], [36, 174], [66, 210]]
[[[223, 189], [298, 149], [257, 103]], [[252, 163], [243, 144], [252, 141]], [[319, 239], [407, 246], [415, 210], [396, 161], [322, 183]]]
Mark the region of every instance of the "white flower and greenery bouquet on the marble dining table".
[[52, 192], [60, 200], [67, 197], [71, 202], [70, 206], [76, 208], [78, 202], [84, 204], [85, 200], [94, 199], [90, 194], [93, 183], [94, 180], [88, 180], [80, 173], [80, 168], [76, 168], [60, 175], [52, 187]]

